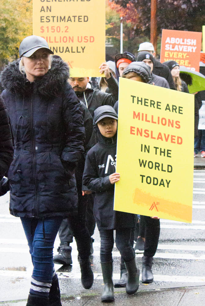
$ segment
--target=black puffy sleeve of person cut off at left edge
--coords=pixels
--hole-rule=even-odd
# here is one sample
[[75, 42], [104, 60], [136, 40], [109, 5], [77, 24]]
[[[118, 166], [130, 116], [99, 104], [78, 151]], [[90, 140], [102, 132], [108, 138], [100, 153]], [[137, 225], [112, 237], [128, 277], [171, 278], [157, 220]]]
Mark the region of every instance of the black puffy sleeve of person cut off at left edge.
[[0, 96], [0, 180], [9, 169], [12, 157], [13, 145], [9, 116], [4, 100]]

